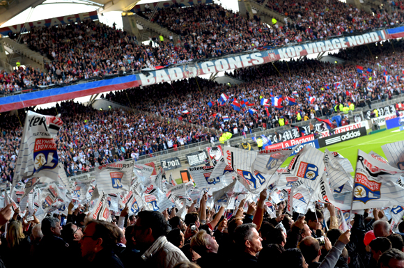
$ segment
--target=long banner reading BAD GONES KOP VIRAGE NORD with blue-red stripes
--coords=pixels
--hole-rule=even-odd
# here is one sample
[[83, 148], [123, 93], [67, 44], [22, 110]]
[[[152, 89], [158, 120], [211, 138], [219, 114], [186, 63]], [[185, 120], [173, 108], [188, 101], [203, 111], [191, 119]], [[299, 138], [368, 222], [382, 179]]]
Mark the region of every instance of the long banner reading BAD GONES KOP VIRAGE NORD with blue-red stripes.
[[371, 31], [358, 36], [345, 36], [310, 42], [303, 45], [293, 45], [279, 49], [270, 49], [263, 52], [246, 53], [238, 56], [228, 56], [212, 61], [201, 63], [189, 63], [186, 65], [166, 68], [160, 70], [150, 70], [148, 74], [132, 74], [126, 77], [117, 77], [101, 81], [93, 81], [86, 84], [65, 86], [63, 88], [52, 88], [40, 90], [22, 95], [12, 95], [0, 98], [0, 113], [14, 109], [22, 109], [48, 102], [59, 102], [70, 100], [76, 97], [84, 97], [107, 91], [123, 90], [139, 86], [148, 86], [162, 82], [174, 81], [178, 79], [193, 78], [202, 74], [223, 72], [238, 68], [246, 68], [253, 65], [261, 65], [272, 61], [279, 61], [286, 58], [306, 56], [319, 52], [328, 52], [334, 49], [345, 47], [356, 47], [382, 40], [404, 37], [404, 26], [394, 29]]

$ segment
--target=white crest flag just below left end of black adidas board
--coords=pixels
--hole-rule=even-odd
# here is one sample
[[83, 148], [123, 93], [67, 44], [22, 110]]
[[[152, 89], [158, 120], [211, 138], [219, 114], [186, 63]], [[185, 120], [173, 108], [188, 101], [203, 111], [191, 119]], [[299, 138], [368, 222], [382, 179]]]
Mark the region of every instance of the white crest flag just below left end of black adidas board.
[[316, 189], [324, 172], [323, 159], [323, 152], [306, 144], [290, 161], [288, 170], [292, 175], [304, 179], [304, 184], [311, 189]]

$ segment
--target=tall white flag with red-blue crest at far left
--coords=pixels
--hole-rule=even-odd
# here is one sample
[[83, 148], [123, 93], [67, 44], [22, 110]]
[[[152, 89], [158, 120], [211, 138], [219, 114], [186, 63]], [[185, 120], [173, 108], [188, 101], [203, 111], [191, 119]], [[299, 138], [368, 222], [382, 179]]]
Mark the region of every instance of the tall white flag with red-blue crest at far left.
[[58, 180], [59, 157], [54, 139], [62, 125], [59, 115], [26, 113], [11, 189], [20, 180], [31, 177], [45, 176]]

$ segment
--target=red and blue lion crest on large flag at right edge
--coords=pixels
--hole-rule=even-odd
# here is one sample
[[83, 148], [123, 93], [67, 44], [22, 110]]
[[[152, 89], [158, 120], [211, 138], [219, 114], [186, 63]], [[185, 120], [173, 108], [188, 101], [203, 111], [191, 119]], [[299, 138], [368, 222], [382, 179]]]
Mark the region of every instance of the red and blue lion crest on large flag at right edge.
[[380, 182], [368, 180], [366, 175], [357, 173], [353, 200], [366, 204], [369, 200], [380, 199], [380, 187], [382, 187]]

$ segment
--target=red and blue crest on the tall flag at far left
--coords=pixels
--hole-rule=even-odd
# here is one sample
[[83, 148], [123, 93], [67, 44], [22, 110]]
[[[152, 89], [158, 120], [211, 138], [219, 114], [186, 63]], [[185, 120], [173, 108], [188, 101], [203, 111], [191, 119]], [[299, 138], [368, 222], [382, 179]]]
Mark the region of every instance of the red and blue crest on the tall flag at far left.
[[56, 143], [54, 142], [54, 139], [36, 139], [33, 148], [33, 159], [34, 172], [42, 168], [56, 168], [59, 162], [59, 157], [56, 152]]

